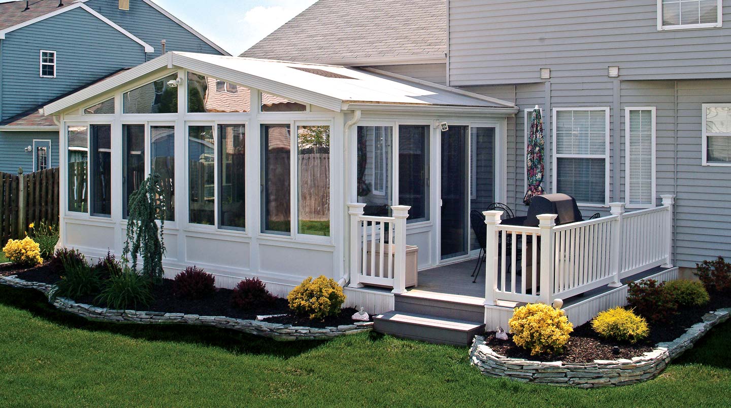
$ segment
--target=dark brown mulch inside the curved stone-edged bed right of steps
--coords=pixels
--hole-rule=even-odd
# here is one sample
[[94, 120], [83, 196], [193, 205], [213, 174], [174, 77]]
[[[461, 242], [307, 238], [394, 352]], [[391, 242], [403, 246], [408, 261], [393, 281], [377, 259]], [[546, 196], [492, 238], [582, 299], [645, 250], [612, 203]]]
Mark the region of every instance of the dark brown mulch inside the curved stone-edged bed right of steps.
[[[525, 358], [531, 361], [564, 361], [564, 363], [592, 363], [594, 360], [616, 360], [617, 358], [632, 359], [655, 349], [661, 342], [672, 342], [685, 334], [686, 330], [702, 321], [702, 316], [708, 312], [724, 307], [731, 307], [730, 293], [711, 293], [711, 301], [703, 307], [686, 307], [678, 309], [670, 323], [651, 323], [650, 336], [635, 345], [614, 342], [602, 339], [591, 328], [591, 322], [574, 328], [571, 339], [564, 347], [561, 355], [534, 356], [528, 350], [515, 345], [512, 335], [507, 340], [495, 338], [495, 332], [485, 334], [485, 342], [499, 355], [510, 358]], [[619, 347], [619, 354], [613, 353], [613, 348]]]

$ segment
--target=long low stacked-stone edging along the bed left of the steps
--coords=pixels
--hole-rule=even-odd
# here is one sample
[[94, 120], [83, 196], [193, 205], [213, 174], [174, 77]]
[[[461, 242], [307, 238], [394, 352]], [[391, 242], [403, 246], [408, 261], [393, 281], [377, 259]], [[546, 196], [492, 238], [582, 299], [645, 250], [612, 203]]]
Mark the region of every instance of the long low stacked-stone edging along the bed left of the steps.
[[[40, 282], [26, 282], [18, 277], [0, 277], [0, 284], [12, 286], [13, 288], [36, 289], [50, 299], [50, 294], [55, 290], [55, 285], [48, 285]], [[50, 301], [50, 300], [49, 300]], [[200, 326], [215, 326], [219, 328], [230, 328], [243, 333], [256, 336], [269, 337], [279, 341], [293, 340], [325, 340], [345, 334], [363, 333], [371, 331], [373, 322], [357, 322], [352, 325], [312, 328], [304, 326], [292, 326], [281, 323], [267, 323], [259, 320], [243, 320], [224, 316], [199, 316], [186, 315], [183, 313], [163, 312], [137, 312], [135, 310], [113, 310], [103, 307], [95, 307], [88, 304], [78, 304], [71, 299], [56, 298], [53, 306], [66, 312], [71, 312], [89, 320], [100, 320], [107, 322], [129, 322], [143, 324], [159, 323], [183, 323]]]

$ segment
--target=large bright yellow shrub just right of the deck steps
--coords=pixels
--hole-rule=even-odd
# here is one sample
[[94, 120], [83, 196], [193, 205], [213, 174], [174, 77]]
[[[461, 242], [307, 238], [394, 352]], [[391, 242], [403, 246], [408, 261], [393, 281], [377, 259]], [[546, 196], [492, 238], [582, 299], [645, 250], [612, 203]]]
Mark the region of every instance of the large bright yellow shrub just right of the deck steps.
[[574, 331], [563, 310], [541, 303], [516, 308], [508, 324], [512, 341], [531, 355], [561, 353]]

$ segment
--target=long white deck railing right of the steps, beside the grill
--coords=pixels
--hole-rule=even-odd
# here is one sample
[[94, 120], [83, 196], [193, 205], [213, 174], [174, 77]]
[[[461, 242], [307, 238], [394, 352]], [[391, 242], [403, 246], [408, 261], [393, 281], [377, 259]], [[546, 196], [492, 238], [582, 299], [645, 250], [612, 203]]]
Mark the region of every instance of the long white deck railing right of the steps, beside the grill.
[[505, 226], [500, 211], [486, 211], [485, 304], [569, 298], [655, 266], [672, 266], [674, 196], [662, 207], [556, 226], [539, 215], [538, 227]]

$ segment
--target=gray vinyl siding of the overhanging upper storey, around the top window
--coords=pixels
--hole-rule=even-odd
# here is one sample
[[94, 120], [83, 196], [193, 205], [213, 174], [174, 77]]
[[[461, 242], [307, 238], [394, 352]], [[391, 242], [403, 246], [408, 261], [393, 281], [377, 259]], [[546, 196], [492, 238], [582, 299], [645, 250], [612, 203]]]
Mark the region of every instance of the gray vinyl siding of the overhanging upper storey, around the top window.
[[[724, 28], [657, 30], [656, 0], [450, 0], [450, 85], [729, 77], [731, 0]], [[588, 91], [588, 90], [584, 90]]]

